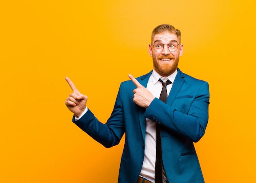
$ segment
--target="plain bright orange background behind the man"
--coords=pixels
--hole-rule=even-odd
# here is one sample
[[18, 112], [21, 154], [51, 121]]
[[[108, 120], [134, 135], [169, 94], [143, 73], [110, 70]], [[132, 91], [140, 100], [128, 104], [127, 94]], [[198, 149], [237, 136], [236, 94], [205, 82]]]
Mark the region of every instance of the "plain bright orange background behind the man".
[[1, 1], [0, 182], [117, 182], [124, 140], [106, 149], [71, 122], [65, 76], [105, 122], [121, 81], [152, 69], [150, 34], [162, 23], [182, 32], [180, 69], [210, 85], [209, 125], [195, 144], [206, 183], [255, 182], [255, 5]]

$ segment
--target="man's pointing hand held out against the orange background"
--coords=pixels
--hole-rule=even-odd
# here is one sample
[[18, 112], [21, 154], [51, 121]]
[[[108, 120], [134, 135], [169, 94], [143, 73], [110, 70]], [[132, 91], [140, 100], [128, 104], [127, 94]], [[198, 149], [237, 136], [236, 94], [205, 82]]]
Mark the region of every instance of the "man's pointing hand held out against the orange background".
[[73, 90], [73, 93], [71, 93], [70, 96], [67, 97], [65, 104], [67, 108], [76, 115], [76, 117], [79, 117], [86, 108], [88, 97], [81, 94], [78, 89], [76, 89], [70, 78], [66, 77], [65, 79]]

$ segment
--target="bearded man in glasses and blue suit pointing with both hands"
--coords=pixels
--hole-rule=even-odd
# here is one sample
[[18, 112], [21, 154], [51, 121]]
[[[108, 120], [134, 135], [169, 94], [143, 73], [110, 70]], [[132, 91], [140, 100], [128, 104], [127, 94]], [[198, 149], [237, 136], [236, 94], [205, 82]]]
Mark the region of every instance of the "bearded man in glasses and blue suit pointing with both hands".
[[[162, 154], [159, 182], [204, 182], [193, 142], [200, 140], [207, 126], [209, 85], [177, 68], [183, 53], [180, 41], [180, 31], [171, 25], [153, 30], [148, 47], [153, 71], [137, 79], [129, 75], [130, 80], [121, 83], [106, 124], [94, 117], [86, 107], [87, 96], [66, 78], [73, 93], [65, 104], [77, 126], [105, 147], [117, 145], [126, 133], [119, 183], [155, 182], [156, 154]], [[159, 99], [162, 90], [167, 101]], [[161, 142], [156, 145], [160, 133], [156, 128], [162, 148]]]

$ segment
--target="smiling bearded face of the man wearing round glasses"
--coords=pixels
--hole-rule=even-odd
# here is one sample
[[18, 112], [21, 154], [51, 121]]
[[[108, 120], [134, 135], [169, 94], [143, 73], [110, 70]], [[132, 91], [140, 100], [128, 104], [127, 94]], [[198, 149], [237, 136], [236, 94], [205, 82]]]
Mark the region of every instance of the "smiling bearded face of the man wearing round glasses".
[[[164, 45], [161, 52], [156, 52], [153, 48], [155, 43], [160, 42]], [[174, 52], [169, 51], [168, 44], [170, 42], [177, 42], [180, 44], [176, 34], [170, 32], [157, 33], [152, 39], [152, 45], [148, 47], [150, 56], [153, 58], [154, 70], [163, 77], [173, 74], [178, 67], [180, 56], [183, 54], [183, 45], [178, 45], [178, 49]]]

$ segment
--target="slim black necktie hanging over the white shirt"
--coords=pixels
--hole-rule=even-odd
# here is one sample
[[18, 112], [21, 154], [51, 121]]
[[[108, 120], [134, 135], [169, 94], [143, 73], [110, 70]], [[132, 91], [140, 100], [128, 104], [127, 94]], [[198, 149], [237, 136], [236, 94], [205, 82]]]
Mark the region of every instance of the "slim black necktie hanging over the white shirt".
[[[160, 94], [159, 99], [166, 103], [167, 100], [167, 90], [166, 86], [171, 84], [170, 80], [167, 80], [166, 83], [159, 79], [162, 83], [163, 88]], [[156, 124], [156, 159], [155, 159], [155, 183], [162, 183], [162, 143], [161, 143], [161, 127], [159, 124]]]

